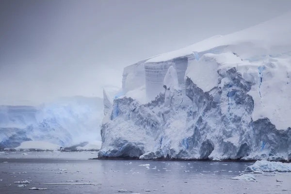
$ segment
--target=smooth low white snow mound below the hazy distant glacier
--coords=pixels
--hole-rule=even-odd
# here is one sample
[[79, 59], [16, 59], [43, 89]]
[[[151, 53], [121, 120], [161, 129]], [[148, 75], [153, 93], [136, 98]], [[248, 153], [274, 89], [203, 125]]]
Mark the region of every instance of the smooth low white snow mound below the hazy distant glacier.
[[60, 150], [59, 145], [51, 144], [44, 141], [27, 141], [22, 142], [20, 146], [16, 147], [16, 150], [25, 150], [25, 149], [37, 149], [37, 150]]

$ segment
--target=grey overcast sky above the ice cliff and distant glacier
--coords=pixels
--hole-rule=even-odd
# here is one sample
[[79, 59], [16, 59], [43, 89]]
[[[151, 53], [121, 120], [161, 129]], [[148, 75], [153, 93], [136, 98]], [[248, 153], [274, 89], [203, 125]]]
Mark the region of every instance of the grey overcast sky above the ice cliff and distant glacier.
[[102, 97], [123, 67], [291, 11], [291, 0], [1, 0], [0, 104]]

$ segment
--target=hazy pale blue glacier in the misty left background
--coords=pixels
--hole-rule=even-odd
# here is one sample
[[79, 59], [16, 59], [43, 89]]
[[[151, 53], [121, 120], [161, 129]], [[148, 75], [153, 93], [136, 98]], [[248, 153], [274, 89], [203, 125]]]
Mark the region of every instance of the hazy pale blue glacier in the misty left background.
[[0, 149], [42, 141], [68, 147], [101, 140], [99, 97], [61, 97], [39, 106], [0, 106]]

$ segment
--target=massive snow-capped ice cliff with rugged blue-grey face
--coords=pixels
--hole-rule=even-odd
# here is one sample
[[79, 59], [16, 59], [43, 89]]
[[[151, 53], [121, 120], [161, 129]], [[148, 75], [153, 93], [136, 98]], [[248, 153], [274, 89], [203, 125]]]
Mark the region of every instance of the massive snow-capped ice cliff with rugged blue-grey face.
[[134, 83], [126, 77], [107, 108], [99, 157], [290, 160], [290, 21], [291, 13], [125, 68]]

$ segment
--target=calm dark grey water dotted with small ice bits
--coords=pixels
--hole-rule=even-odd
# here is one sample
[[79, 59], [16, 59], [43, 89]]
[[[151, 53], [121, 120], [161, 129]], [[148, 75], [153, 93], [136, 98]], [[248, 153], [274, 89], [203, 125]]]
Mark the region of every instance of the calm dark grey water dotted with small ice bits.
[[[291, 193], [289, 173], [254, 175], [257, 182], [230, 179], [252, 164], [246, 162], [98, 161], [87, 160], [96, 157], [90, 152], [6, 153], [9, 155], [0, 155], [0, 194], [114, 194], [120, 189], [140, 194]], [[150, 164], [150, 169], [140, 164]], [[32, 182], [27, 187], [17, 187], [19, 184], [14, 182], [21, 180]], [[42, 182], [101, 185], [39, 184]], [[32, 187], [47, 190], [29, 190]]]

